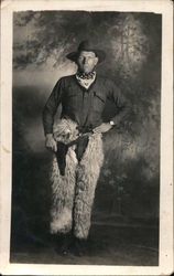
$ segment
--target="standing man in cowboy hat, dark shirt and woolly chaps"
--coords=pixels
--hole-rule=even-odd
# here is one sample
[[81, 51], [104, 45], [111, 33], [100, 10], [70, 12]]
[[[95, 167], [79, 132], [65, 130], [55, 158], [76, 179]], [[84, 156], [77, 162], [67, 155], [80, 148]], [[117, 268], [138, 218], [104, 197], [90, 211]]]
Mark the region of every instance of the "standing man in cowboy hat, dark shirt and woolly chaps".
[[[45, 145], [55, 152], [51, 172], [51, 233], [57, 235], [63, 254], [69, 248], [79, 248], [88, 238], [95, 189], [104, 160], [102, 134], [118, 126], [129, 109], [116, 84], [95, 71], [105, 56], [104, 51], [83, 41], [76, 52], [67, 55], [77, 64], [77, 73], [56, 83], [43, 110]], [[116, 104], [118, 112], [109, 123], [102, 123], [107, 98]], [[61, 104], [61, 121], [54, 126]]]

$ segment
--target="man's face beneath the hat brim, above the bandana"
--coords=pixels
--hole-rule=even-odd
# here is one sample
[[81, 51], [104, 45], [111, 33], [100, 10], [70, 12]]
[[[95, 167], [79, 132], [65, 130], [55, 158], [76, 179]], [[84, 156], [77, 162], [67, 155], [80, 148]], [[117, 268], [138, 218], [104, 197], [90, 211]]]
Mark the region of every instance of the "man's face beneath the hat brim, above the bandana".
[[90, 73], [98, 63], [98, 57], [94, 52], [81, 51], [77, 59], [78, 70], [83, 73]]

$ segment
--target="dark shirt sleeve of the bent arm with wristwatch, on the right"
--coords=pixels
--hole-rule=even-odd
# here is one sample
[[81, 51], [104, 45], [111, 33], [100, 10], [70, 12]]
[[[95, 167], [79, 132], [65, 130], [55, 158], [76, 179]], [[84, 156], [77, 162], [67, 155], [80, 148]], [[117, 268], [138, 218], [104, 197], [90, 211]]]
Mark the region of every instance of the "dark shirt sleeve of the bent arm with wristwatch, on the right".
[[120, 88], [113, 82], [109, 81], [108, 87], [108, 99], [116, 104], [118, 110], [116, 116], [110, 120], [112, 120], [115, 125], [118, 126], [129, 115], [131, 108], [130, 102], [126, 99]]

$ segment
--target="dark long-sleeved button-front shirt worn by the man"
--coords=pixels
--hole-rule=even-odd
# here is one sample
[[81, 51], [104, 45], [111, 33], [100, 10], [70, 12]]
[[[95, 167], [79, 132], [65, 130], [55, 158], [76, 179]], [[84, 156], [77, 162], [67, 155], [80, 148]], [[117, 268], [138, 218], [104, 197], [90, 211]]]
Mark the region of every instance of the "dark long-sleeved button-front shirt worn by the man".
[[62, 117], [75, 120], [79, 127], [97, 127], [102, 123], [107, 99], [116, 104], [117, 115], [111, 118], [116, 125], [128, 114], [129, 105], [118, 86], [110, 79], [96, 76], [88, 89], [76, 79], [76, 75], [62, 77], [55, 85], [43, 110], [46, 134], [53, 132], [54, 116], [62, 104]]

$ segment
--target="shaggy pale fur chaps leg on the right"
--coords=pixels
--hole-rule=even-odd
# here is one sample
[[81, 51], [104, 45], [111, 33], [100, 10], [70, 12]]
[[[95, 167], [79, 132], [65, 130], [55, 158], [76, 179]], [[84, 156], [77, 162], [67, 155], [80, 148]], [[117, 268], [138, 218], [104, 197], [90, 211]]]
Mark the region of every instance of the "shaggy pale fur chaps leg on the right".
[[74, 234], [87, 238], [90, 229], [90, 214], [95, 190], [104, 161], [101, 135], [89, 137], [88, 146], [77, 166], [77, 179], [74, 205]]

